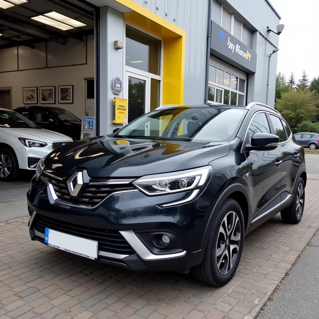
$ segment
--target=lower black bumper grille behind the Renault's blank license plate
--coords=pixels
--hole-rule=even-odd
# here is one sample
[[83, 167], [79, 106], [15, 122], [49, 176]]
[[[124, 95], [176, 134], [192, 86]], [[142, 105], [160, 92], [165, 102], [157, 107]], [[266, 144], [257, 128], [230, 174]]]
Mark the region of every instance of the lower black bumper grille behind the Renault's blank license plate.
[[44, 234], [45, 228], [98, 241], [98, 250], [121, 255], [134, 255], [135, 251], [117, 230], [75, 225], [59, 219], [36, 214], [33, 229]]

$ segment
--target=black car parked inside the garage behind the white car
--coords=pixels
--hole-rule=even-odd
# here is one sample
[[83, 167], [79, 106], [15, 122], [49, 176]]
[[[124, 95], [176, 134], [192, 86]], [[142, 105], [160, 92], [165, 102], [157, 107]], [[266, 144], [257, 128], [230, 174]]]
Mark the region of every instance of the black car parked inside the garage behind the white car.
[[42, 129], [70, 136], [73, 141], [81, 138], [81, 120], [71, 112], [54, 106], [22, 106], [14, 111], [26, 117]]

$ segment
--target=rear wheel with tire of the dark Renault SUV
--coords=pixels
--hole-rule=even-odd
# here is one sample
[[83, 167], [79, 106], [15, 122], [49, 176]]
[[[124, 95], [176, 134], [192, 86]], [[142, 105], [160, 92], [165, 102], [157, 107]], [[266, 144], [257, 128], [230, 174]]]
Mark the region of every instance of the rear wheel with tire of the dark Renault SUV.
[[303, 179], [299, 177], [297, 187], [293, 193], [293, 201], [290, 206], [280, 212], [281, 219], [285, 223], [298, 224], [303, 215], [305, 207], [305, 184]]

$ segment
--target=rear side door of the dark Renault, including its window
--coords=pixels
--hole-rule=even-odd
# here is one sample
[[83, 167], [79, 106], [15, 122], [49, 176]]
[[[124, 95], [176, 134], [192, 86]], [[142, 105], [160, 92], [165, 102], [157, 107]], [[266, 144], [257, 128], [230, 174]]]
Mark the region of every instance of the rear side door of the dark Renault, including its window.
[[291, 130], [285, 121], [273, 114], [269, 114], [269, 118], [272, 133], [279, 136], [278, 150], [282, 160], [281, 200], [284, 201], [289, 194], [293, 193], [294, 181], [302, 163], [300, 157], [302, 147], [291, 138]]

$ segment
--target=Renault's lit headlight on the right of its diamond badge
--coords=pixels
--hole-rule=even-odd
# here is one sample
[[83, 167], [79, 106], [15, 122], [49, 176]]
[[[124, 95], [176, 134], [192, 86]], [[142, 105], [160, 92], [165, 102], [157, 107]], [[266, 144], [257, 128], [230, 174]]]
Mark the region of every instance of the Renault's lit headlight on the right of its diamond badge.
[[147, 195], [182, 192], [203, 186], [211, 176], [211, 166], [204, 166], [174, 173], [143, 176], [133, 185]]

